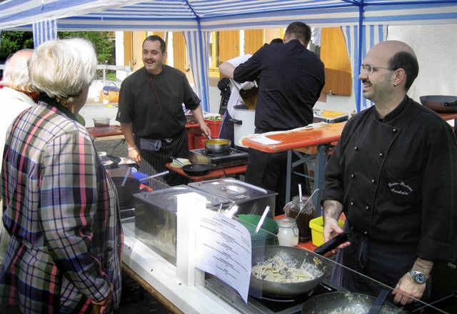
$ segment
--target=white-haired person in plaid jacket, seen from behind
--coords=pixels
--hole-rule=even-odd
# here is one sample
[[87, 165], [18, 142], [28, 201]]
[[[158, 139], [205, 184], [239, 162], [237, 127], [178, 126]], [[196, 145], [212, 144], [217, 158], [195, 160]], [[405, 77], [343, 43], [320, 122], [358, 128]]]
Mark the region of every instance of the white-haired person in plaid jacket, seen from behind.
[[39, 103], [7, 133], [3, 222], [11, 235], [0, 313], [103, 313], [119, 306], [122, 230], [116, 188], [76, 121], [96, 74], [85, 39], [46, 41], [29, 61]]

